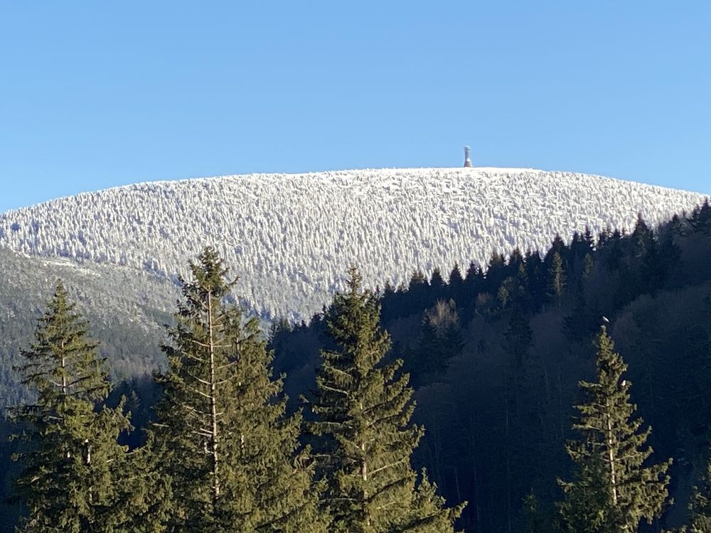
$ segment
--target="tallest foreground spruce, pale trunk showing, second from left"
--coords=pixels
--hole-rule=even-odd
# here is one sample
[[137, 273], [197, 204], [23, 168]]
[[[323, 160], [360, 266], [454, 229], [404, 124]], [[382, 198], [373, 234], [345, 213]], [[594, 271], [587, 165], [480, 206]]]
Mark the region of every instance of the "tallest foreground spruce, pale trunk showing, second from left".
[[158, 377], [154, 454], [170, 479], [171, 532], [325, 532], [300, 416], [256, 318], [228, 303], [233, 283], [213, 249], [190, 264]]

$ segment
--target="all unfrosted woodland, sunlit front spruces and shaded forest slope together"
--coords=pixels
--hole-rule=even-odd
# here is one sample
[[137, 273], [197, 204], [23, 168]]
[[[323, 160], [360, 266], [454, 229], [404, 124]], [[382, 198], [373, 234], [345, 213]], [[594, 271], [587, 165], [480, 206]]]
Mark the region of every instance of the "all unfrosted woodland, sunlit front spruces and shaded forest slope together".
[[711, 532], [710, 259], [705, 203], [407, 286], [371, 292], [351, 269], [267, 340], [207, 249], [166, 365], [113, 392], [60, 285], [19, 361], [33, 395], [4, 428], [4, 516], [23, 532]]

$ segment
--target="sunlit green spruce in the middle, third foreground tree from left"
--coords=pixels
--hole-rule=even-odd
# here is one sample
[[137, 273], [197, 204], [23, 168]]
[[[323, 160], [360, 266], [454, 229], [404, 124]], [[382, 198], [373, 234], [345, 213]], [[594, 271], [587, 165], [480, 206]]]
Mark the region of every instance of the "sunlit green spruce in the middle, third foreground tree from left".
[[326, 326], [336, 346], [321, 352], [311, 431], [326, 481], [324, 507], [338, 533], [446, 532], [463, 506], [444, 507], [426, 477], [416, 488], [410, 456], [422, 437], [402, 362], [384, 364], [390, 336], [380, 328], [380, 306], [349, 271]]

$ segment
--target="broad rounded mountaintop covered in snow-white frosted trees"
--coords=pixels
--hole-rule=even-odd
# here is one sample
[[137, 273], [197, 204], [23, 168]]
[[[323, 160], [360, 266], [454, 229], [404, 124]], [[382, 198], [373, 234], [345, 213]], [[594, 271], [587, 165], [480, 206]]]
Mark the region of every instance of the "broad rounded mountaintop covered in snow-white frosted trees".
[[[412, 271], [546, 249], [556, 232], [630, 228], [703, 196], [575, 173], [422, 168], [252, 174], [141, 183], [0, 215], [0, 246], [183, 273], [207, 244], [260, 313], [306, 318], [346, 268], [393, 284]], [[446, 272], [445, 272], [446, 275]]]

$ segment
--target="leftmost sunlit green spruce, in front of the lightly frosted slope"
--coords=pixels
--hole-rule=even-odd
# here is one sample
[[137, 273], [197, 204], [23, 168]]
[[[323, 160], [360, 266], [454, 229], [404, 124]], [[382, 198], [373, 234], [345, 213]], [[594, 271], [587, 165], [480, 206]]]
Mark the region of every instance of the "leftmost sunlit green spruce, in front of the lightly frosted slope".
[[122, 470], [129, 429], [122, 405], [100, 407], [111, 384], [88, 324], [58, 284], [39, 320], [35, 340], [23, 350], [19, 370], [36, 402], [11, 411], [26, 431], [18, 495], [28, 515], [19, 532], [120, 532], [130, 512]]

